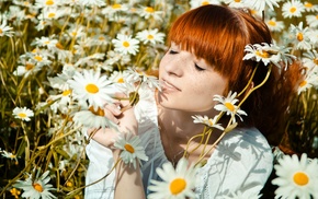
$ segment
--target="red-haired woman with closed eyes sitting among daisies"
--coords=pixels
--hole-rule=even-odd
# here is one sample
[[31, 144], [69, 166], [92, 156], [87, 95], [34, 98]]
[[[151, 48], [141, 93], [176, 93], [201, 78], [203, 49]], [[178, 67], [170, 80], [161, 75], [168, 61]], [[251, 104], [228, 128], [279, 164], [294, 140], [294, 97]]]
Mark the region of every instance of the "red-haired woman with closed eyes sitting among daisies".
[[[186, 150], [192, 151], [200, 140], [192, 139], [204, 130], [193, 122], [192, 116], [214, 118], [215, 95], [226, 96], [230, 91], [242, 98], [266, 75], [268, 67], [260, 62], [252, 83], [248, 84], [258, 62], [243, 60], [249, 44], [271, 44], [266, 25], [246, 10], [220, 5], [204, 5], [181, 15], [169, 34], [170, 48], [159, 67], [161, 91], [151, 93], [124, 113], [107, 105], [110, 119], [120, 124], [122, 131], [138, 134], [148, 161], [136, 168], [123, 163], [116, 165], [105, 179], [87, 187], [86, 198], [145, 198], [150, 179], [158, 179], [157, 167], [168, 161], [177, 164]], [[247, 116], [237, 119], [238, 127], [217, 141], [222, 130], [214, 129], [207, 142], [213, 150], [204, 156], [196, 177], [196, 198], [224, 198], [236, 192], [257, 196], [272, 171], [272, 153], [268, 142], [279, 141], [277, 124], [288, 104], [296, 78], [273, 68], [263, 86], [253, 91], [242, 104]], [[283, 80], [283, 81], [282, 81]], [[246, 87], [248, 85], [248, 87]], [[245, 89], [246, 87], [246, 89]], [[127, 102], [122, 101], [122, 106]], [[271, 105], [269, 107], [269, 105]], [[141, 109], [141, 110], [140, 110]], [[219, 122], [225, 127], [229, 117]], [[88, 145], [90, 167], [87, 184], [105, 175], [118, 159], [112, 148], [112, 130], [99, 130]], [[190, 140], [190, 141], [189, 141]], [[274, 142], [272, 142], [275, 144]], [[189, 148], [186, 148], [186, 145]], [[189, 153], [196, 163], [203, 145]], [[203, 161], [204, 162], [204, 161]]]

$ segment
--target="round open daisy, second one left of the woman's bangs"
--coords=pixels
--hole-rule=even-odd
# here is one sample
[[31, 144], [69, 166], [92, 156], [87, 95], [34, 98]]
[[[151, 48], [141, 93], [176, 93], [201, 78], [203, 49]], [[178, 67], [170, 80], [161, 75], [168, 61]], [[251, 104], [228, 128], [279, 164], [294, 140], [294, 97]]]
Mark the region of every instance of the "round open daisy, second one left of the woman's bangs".
[[124, 55], [136, 55], [139, 48], [139, 40], [132, 38], [132, 35], [117, 34], [117, 37], [112, 39], [115, 46], [115, 51], [121, 51]]

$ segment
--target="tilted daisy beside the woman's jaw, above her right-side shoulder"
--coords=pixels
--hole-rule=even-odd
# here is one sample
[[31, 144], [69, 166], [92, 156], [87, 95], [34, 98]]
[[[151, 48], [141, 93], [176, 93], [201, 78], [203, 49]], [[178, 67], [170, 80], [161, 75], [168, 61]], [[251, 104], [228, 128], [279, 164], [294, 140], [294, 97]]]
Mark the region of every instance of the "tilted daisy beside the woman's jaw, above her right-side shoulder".
[[228, 93], [227, 97], [220, 96], [220, 95], [215, 95], [214, 101], [219, 102], [220, 104], [215, 105], [214, 108], [219, 112], [226, 112], [226, 115], [232, 116], [232, 122], [236, 122], [236, 118], [234, 117], [235, 115], [240, 118], [242, 121], [242, 118], [240, 117], [241, 115], [247, 115], [246, 112], [241, 110], [238, 106], [235, 104], [238, 102], [236, 98], [237, 93], [235, 92], [231, 94], [231, 91]]

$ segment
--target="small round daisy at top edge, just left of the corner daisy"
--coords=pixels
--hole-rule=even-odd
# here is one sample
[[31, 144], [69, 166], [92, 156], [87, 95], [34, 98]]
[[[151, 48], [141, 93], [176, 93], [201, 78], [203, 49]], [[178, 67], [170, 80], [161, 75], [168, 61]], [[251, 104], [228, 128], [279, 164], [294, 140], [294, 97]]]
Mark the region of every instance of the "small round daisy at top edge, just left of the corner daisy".
[[283, 16], [286, 17], [302, 17], [305, 12], [305, 7], [299, 0], [287, 1], [282, 8]]

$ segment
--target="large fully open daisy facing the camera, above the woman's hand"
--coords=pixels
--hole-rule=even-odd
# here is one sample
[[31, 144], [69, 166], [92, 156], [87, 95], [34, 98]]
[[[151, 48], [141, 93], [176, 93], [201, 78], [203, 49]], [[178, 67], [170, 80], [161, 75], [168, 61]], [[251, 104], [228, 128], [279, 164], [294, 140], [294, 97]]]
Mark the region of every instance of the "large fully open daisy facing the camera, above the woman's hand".
[[111, 81], [105, 75], [101, 77], [100, 72], [83, 70], [76, 72], [72, 80], [68, 81], [72, 89], [72, 96], [78, 99], [79, 104], [93, 106], [96, 112], [105, 102], [113, 102], [109, 87]]

